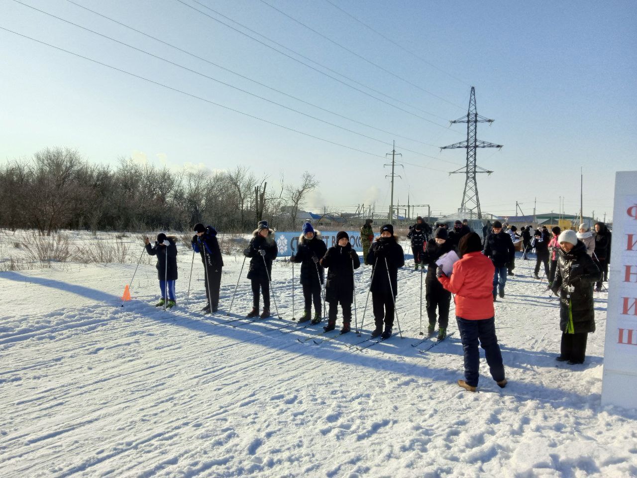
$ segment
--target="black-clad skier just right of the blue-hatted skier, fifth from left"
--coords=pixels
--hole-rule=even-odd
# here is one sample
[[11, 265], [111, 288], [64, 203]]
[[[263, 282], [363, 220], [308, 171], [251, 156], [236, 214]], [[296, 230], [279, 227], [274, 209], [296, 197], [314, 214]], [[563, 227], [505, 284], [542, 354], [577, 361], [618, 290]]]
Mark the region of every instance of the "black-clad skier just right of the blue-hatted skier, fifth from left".
[[336, 245], [327, 249], [320, 264], [327, 268], [325, 300], [329, 303], [329, 315], [326, 332], [336, 328], [338, 303], [343, 309], [343, 328], [341, 333], [350, 331], [352, 324], [352, 301], [354, 300], [354, 269], [361, 266], [361, 259], [352, 249], [349, 236], [345, 231], [336, 234]]

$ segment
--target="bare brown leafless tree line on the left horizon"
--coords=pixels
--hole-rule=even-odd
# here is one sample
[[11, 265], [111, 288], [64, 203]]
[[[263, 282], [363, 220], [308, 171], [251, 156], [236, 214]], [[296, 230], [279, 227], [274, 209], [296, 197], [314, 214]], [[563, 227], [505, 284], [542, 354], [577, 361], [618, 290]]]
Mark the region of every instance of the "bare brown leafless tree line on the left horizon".
[[248, 168], [174, 171], [122, 157], [115, 167], [90, 164], [77, 150], [45, 148], [0, 165], [0, 227], [91, 231], [190, 231], [197, 222], [220, 231], [252, 231], [257, 221], [296, 229], [297, 214], [318, 186], [307, 171], [300, 184], [276, 188]]

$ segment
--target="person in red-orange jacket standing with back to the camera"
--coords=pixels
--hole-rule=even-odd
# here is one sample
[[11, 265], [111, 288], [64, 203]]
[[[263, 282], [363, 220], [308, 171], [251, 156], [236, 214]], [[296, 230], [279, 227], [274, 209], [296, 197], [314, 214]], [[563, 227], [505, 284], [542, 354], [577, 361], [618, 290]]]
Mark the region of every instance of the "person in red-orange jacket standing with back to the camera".
[[458, 385], [468, 391], [476, 391], [480, 375], [479, 340], [491, 377], [504, 388], [505, 366], [497, 345], [492, 296], [495, 267], [491, 259], [482, 254], [482, 242], [476, 233], [463, 236], [459, 249], [462, 258], [454, 264], [451, 277], [447, 277], [440, 268], [436, 274], [442, 286], [455, 294], [455, 319], [464, 351], [464, 380], [458, 380]]

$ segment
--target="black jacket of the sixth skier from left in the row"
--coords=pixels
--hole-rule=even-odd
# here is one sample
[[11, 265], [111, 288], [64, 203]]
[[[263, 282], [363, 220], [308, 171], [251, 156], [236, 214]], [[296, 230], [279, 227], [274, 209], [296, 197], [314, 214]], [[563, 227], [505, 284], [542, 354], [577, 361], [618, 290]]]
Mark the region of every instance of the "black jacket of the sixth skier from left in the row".
[[[385, 259], [387, 259], [387, 266], [389, 266], [391, 283], [387, 278], [388, 269], [385, 266]], [[404, 266], [403, 248], [398, 243], [396, 236], [376, 238], [371, 247], [369, 247], [367, 263], [373, 266], [371, 270], [373, 276], [370, 286], [371, 292], [389, 293], [391, 284], [391, 290], [394, 292], [395, 297], [398, 287], [398, 268]]]

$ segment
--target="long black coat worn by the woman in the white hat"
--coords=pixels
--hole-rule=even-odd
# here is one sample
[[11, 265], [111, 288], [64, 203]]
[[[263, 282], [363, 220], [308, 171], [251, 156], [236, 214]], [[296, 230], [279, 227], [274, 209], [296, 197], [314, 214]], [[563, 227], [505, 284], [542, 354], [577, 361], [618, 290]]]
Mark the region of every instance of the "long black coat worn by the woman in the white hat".
[[[595, 331], [593, 284], [598, 280], [601, 280], [599, 268], [586, 254], [586, 246], [582, 241], [578, 240], [570, 252], [564, 252], [561, 248], [558, 250], [557, 270], [551, 288], [556, 295], [559, 294], [559, 327], [562, 332], [569, 333], [569, 315], [573, 317], [573, 330], [570, 333]], [[569, 286], [575, 287], [575, 291], [569, 293]]]

